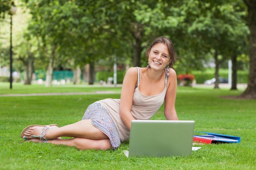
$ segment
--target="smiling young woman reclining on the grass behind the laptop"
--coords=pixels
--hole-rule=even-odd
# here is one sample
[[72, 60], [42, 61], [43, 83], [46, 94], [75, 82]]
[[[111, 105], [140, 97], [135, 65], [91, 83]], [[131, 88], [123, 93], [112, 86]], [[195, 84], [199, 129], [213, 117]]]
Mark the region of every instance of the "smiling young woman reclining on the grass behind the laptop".
[[[30, 125], [20, 137], [26, 141], [76, 146], [78, 149], [116, 149], [130, 137], [131, 121], [148, 120], [164, 103], [167, 120], [177, 120], [177, 78], [174, 46], [166, 37], [153, 41], [146, 51], [148, 66], [129, 68], [121, 98], [103, 99], [89, 105], [81, 121], [58, 127]], [[61, 139], [60, 137], [73, 137]]]

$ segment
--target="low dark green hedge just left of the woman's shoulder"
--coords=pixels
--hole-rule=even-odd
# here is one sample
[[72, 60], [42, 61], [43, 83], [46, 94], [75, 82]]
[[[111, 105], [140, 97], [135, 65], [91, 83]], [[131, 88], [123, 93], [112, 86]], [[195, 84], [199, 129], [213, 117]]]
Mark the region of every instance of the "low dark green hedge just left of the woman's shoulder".
[[[125, 71], [117, 71], [117, 83], [118, 84], [122, 84], [123, 83], [123, 79], [125, 76]], [[105, 82], [108, 81], [108, 77], [113, 77], [114, 72], [113, 71], [99, 71], [96, 73], [96, 80], [97, 82], [103, 80]]]

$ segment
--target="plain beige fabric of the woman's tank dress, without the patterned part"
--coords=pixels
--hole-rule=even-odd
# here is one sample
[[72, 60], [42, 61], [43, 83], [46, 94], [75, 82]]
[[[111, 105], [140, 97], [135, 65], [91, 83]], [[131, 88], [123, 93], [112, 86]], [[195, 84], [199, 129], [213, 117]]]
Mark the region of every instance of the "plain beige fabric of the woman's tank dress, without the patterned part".
[[[138, 84], [133, 95], [131, 114], [137, 120], [149, 120], [164, 103], [164, 97], [167, 91], [167, 76], [164, 73], [165, 88], [162, 93], [153, 96], [146, 96], [141, 94], [139, 91], [141, 71], [139, 67], [137, 67], [137, 70]], [[115, 122], [121, 142], [127, 141], [130, 138], [130, 130], [126, 127], [119, 115], [120, 99], [103, 99], [97, 103], [101, 104], [108, 110], [110, 117]]]

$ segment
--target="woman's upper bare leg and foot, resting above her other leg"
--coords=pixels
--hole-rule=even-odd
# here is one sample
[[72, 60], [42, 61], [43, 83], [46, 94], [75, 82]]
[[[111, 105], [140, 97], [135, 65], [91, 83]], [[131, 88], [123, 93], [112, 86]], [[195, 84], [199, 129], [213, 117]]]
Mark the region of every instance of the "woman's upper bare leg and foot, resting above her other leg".
[[[24, 137], [32, 139], [31, 135], [40, 135], [42, 126], [34, 126], [24, 133]], [[58, 137], [79, 137], [85, 139], [108, 139], [107, 135], [92, 125], [89, 119], [78, 121], [74, 124], [66, 125], [60, 128], [50, 129], [46, 135], [46, 139], [56, 139]]]

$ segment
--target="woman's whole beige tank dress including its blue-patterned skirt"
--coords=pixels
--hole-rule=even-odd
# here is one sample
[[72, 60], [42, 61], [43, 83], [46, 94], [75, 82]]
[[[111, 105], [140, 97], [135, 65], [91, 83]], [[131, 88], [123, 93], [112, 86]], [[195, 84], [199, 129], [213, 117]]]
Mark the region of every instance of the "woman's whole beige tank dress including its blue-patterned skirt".
[[[165, 73], [164, 91], [158, 95], [146, 96], [139, 91], [139, 82], [141, 77], [140, 68], [138, 71], [138, 84], [135, 87], [131, 114], [137, 120], [150, 119], [162, 106], [167, 91], [167, 76]], [[90, 104], [85, 110], [82, 120], [92, 120], [92, 125], [101, 130], [110, 139], [112, 149], [120, 146], [121, 142], [127, 141], [130, 137], [130, 130], [122, 121], [120, 115], [120, 99], [103, 99]]]

